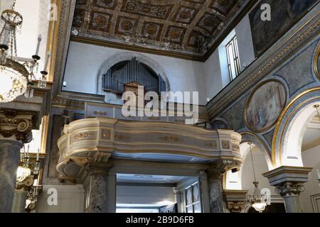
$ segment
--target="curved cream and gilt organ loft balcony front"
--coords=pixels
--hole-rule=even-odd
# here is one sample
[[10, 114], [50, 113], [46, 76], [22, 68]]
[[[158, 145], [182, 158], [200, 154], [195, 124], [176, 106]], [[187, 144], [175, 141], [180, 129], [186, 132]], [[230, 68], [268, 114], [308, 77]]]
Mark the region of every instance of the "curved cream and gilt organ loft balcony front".
[[210, 164], [228, 168], [242, 163], [241, 135], [178, 123], [86, 118], [66, 125], [58, 140], [60, 177], [81, 182], [87, 163], [130, 159]]

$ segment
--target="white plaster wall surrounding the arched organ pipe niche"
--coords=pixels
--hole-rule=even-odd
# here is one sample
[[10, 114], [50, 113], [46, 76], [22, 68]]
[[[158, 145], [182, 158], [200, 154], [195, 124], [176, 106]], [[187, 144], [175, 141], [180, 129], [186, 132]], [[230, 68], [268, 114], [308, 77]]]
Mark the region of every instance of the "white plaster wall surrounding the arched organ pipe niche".
[[[108, 58], [131, 52], [97, 45], [70, 42], [64, 81], [69, 92], [95, 94], [97, 72]], [[135, 53], [135, 52], [132, 52]], [[200, 104], [206, 104], [206, 82], [203, 62], [139, 53], [159, 63], [169, 79], [171, 91], [199, 92]]]

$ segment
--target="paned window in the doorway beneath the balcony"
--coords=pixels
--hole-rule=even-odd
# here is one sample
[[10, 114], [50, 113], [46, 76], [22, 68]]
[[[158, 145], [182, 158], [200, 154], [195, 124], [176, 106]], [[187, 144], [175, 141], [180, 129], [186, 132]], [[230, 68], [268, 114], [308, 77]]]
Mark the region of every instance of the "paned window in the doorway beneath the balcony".
[[186, 188], [186, 213], [201, 213], [200, 188], [198, 182]]

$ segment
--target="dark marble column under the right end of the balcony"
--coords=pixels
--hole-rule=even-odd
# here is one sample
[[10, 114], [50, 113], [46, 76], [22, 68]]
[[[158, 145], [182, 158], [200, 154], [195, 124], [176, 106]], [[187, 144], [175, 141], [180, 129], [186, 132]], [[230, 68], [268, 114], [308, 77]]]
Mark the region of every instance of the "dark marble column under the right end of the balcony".
[[224, 213], [221, 172], [216, 170], [208, 170], [207, 177], [210, 213]]

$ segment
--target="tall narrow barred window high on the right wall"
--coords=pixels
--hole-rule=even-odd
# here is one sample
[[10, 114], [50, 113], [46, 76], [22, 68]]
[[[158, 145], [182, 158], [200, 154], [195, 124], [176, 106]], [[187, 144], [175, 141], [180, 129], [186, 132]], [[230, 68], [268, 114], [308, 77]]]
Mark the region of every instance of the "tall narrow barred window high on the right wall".
[[233, 81], [233, 79], [235, 79], [235, 77], [238, 77], [238, 74], [240, 74], [240, 60], [237, 37], [235, 36], [232, 40], [230, 40], [225, 48], [227, 50], [230, 81]]

